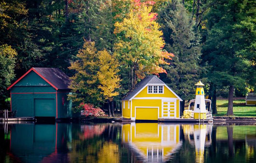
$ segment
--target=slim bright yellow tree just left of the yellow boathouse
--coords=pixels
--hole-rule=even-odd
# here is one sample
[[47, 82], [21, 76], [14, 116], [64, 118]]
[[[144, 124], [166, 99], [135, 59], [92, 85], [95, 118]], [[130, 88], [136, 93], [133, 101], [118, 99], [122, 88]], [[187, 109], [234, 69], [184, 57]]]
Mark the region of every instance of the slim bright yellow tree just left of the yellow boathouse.
[[107, 50], [102, 50], [98, 52], [99, 54], [99, 72], [97, 73], [100, 85], [98, 88], [101, 89], [101, 94], [104, 97], [104, 100], [108, 101], [109, 107], [109, 116], [114, 116], [114, 108], [110, 110], [110, 102], [114, 100], [114, 96], [117, 96], [119, 93], [116, 91], [116, 88], [119, 88], [120, 77], [117, 75], [118, 62], [113, 55], [110, 55]]

